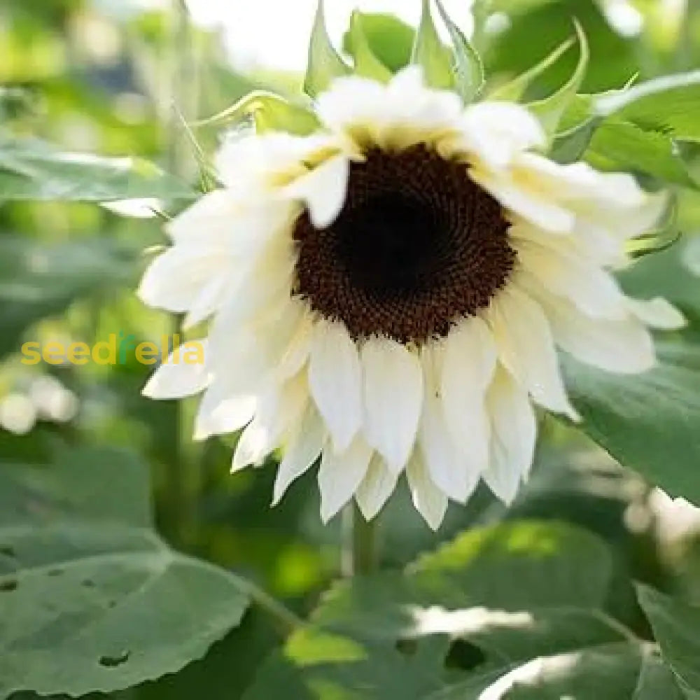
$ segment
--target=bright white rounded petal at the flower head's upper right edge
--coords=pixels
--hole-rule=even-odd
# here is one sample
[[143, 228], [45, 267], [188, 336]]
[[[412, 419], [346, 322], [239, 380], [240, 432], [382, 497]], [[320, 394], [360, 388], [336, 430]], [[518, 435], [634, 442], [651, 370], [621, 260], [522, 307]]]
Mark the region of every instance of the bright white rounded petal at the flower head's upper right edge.
[[462, 118], [465, 149], [489, 168], [503, 168], [517, 153], [545, 146], [545, 132], [532, 113], [510, 102], [478, 102]]

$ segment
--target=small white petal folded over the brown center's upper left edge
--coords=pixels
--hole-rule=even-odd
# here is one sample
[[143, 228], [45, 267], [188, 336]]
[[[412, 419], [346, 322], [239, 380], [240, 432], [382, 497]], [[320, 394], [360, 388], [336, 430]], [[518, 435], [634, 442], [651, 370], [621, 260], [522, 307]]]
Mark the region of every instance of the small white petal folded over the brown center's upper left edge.
[[288, 197], [304, 202], [311, 223], [323, 229], [335, 221], [345, 204], [348, 176], [346, 156], [336, 155], [297, 178], [284, 191]]

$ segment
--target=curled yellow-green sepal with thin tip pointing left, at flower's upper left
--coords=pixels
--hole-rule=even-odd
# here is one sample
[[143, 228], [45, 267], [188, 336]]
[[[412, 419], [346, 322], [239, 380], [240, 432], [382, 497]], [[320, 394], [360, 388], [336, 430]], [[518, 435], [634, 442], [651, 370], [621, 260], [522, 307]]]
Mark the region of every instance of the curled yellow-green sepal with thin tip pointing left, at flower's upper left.
[[223, 112], [197, 123], [197, 126], [230, 123], [246, 117], [252, 117], [255, 132], [277, 131], [308, 136], [321, 126], [313, 112], [305, 107], [287, 102], [272, 92], [255, 90], [242, 97], [236, 104]]

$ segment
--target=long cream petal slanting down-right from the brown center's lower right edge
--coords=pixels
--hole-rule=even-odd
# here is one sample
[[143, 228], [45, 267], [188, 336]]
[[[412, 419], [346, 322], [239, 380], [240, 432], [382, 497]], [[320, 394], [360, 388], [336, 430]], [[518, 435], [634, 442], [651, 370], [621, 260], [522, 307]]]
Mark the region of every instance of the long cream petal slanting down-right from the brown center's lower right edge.
[[491, 302], [489, 321], [501, 362], [533, 399], [550, 411], [578, 420], [564, 388], [547, 317], [514, 284]]

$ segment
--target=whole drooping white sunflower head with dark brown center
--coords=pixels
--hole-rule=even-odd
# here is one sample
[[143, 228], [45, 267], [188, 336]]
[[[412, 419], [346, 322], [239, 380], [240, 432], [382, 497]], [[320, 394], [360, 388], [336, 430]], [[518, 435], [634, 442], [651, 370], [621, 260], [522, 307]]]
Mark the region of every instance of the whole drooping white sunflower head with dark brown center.
[[144, 301], [211, 317], [207, 366], [164, 365], [153, 398], [204, 392], [197, 437], [245, 428], [233, 469], [282, 447], [274, 503], [321, 458], [321, 514], [374, 517], [405, 473], [437, 528], [483, 479], [527, 478], [535, 406], [577, 420], [556, 347], [609, 372], [654, 364], [647, 325], [682, 324], [608, 272], [661, 196], [558, 165], [524, 107], [464, 107], [415, 66], [340, 78], [310, 137], [225, 144], [223, 189], [169, 225]]

